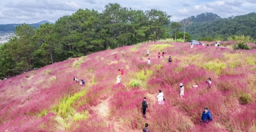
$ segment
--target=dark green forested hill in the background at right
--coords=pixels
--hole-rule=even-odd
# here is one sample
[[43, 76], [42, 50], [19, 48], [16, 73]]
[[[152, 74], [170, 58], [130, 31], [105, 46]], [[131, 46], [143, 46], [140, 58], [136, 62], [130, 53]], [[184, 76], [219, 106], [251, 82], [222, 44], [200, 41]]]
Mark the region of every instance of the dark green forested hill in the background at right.
[[[256, 13], [236, 17], [232, 16], [229, 18], [219, 18], [215, 15], [199, 16], [200, 17], [190, 17], [192, 23], [186, 28], [186, 31], [193, 39], [212, 37], [220, 38], [225, 41], [228, 37], [233, 35], [249, 35], [253, 39], [256, 39]], [[214, 16], [217, 19], [213, 19]], [[209, 19], [213, 21], [208, 21]], [[207, 23], [205, 23], [205, 21], [207, 21]]]

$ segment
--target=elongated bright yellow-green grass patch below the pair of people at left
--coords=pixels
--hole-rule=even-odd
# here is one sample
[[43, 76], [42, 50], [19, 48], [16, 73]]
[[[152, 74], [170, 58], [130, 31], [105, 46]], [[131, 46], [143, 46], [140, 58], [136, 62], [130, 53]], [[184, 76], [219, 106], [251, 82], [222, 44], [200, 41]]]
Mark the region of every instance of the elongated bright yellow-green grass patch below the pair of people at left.
[[86, 93], [87, 91], [84, 90], [79, 93], [75, 93], [73, 96], [64, 97], [56, 107], [53, 107], [53, 111], [61, 117], [67, 117], [68, 113], [71, 110], [71, 105]]

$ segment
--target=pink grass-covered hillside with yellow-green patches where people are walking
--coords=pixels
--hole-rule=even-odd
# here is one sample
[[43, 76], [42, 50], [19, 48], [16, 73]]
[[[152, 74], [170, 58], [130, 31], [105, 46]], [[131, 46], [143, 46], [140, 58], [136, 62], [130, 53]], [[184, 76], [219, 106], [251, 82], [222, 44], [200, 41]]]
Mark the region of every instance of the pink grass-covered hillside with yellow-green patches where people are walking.
[[[165, 52], [164, 60], [158, 52]], [[0, 131], [141, 131], [145, 123], [150, 131], [255, 131], [255, 58], [255, 49], [155, 42], [54, 63], [0, 81]], [[121, 67], [124, 75], [116, 84]], [[159, 89], [164, 105], [157, 102]], [[213, 116], [206, 127], [200, 125], [204, 107]]]

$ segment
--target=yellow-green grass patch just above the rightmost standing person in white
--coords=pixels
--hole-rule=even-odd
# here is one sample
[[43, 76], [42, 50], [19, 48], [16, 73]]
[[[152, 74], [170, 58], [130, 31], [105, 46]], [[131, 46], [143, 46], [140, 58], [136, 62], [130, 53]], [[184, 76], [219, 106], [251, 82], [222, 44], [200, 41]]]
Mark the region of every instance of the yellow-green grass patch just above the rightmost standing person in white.
[[221, 70], [224, 69], [226, 66], [225, 63], [210, 61], [209, 63], [203, 64], [201, 67], [203, 67], [203, 69], [208, 69], [209, 71], [215, 71], [217, 75], [220, 75]]

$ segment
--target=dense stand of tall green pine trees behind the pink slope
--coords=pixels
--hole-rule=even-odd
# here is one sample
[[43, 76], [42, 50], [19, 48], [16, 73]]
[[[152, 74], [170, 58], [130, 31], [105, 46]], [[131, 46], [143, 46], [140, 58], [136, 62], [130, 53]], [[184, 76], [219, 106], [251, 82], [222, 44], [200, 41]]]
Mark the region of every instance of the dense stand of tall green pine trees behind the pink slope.
[[0, 46], [0, 78], [69, 57], [169, 38], [170, 17], [156, 9], [133, 10], [110, 3], [102, 13], [79, 9], [38, 29], [23, 23], [16, 27], [16, 37]]

